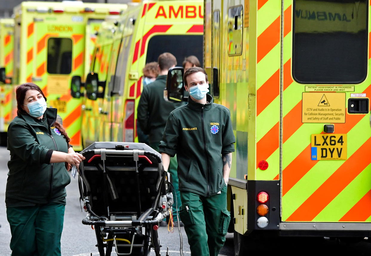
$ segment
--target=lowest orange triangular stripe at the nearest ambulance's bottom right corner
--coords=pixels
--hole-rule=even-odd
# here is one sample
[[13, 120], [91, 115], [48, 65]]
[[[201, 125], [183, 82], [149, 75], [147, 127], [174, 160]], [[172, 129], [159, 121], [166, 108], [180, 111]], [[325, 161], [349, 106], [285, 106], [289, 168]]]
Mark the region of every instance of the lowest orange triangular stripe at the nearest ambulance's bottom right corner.
[[339, 221], [366, 221], [371, 216], [371, 190], [364, 195]]

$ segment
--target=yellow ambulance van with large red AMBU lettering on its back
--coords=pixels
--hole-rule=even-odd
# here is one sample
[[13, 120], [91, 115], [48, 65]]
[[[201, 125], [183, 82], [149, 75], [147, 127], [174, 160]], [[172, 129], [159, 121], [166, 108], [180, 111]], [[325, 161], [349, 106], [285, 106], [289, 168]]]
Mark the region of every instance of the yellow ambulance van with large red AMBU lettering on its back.
[[[131, 3], [107, 26], [98, 32], [99, 45], [86, 77], [83, 116], [91, 120], [86, 120], [89, 129], [82, 131], [84, 146], [93, 141], [138, 141], [137, 105], [146, 63], [164, 52], [174, 54], [178, 65], [190, 55], [203, 59], [202, 1]], [[76, 84], [79, 77], [72, 88]]]

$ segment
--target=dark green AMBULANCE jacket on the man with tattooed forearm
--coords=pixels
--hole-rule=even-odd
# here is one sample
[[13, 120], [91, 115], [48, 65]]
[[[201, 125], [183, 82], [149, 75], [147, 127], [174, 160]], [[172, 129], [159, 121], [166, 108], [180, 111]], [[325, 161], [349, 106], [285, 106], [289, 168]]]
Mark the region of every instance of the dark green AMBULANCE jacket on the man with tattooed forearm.
[[207, 94], [203, 105], [188, 104], [173, 110], [167, 120], [160, 153], [177, 154], [179, 190], [212, 196], [224, 186], [222, 154], [234, 152], [229, 110]]

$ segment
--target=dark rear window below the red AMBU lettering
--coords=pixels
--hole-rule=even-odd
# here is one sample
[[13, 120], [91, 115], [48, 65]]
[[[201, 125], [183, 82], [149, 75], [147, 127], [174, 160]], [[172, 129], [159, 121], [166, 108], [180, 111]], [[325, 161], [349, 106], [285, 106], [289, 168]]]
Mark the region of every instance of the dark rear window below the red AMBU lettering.
[[194, 55], [203, 66], [202, 35], [157, 35], [148, 42], [145, 63], [157, 61], [161, 53], [171, 53], [177, 58], [177, 66], [182, 66], [185, 57]]

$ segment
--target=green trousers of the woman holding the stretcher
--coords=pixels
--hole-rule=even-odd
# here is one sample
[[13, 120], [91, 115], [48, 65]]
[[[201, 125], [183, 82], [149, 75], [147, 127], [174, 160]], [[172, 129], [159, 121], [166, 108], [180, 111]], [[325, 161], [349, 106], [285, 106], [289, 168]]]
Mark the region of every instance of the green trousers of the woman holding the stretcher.
[[7, 207], [12, 256], [60, 256], [65, 205]]

